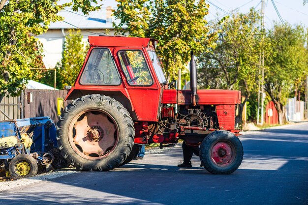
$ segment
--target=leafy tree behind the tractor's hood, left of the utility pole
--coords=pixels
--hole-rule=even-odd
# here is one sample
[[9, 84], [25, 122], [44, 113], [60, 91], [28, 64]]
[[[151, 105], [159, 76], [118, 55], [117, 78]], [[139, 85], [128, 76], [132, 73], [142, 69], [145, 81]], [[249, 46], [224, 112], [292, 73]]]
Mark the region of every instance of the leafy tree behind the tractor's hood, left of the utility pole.
[[233, 13], [214, 21], [218, 32], [216, 47], [199, 58], [199, 82], [203, 88], [240, 89], [244, 101], [239, 105], [236, 123], [241, 123], [243, 107], [256, 90], [260, 57], [261, 17], [257, 11]]

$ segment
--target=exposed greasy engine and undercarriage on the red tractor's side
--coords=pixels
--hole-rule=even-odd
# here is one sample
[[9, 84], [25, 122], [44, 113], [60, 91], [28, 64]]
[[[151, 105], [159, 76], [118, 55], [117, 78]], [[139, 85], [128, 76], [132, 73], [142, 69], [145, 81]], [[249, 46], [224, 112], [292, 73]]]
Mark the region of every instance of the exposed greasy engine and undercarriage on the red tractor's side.
[[[179, 139], [185, 139], [188, 144], [197, 144], [202, 141], [205, 133], [219, 130], [216, 107], [211, 105], [162, 107], [161, 119], [158, 123], [135, 124], [140, 134], [140, 144], [148, 143], [177, 143]], [[200, 138], [200, 139], [198, 139]], [[138, 142], [137, 142], [138, 143]]]

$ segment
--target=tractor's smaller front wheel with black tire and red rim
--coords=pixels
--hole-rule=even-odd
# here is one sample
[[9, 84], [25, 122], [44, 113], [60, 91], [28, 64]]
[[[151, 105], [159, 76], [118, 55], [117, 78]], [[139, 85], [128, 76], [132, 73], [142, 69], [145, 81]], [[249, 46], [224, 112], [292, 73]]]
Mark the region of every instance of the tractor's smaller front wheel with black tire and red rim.
[[224, 130], [209, 134], [200, 146], [200, 160], [204, 168], [212, 174], [233, 173], [241, 165], [243, 155], [239, 138]]

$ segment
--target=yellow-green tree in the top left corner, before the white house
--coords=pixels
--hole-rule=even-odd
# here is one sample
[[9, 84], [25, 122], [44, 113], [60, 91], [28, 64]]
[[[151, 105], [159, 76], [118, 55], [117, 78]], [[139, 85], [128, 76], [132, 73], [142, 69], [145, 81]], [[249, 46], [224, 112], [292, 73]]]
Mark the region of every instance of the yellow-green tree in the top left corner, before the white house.
[[35, 38], [46, 32], [51, 22], [62, 20], [57, 13], [67, 6], [85, 14], [98, 9], [96, 0], [0, 0], [0, 100], [6, 91], [20, 94], [31, 79], [30, 68], [37, 68], [37, 59], [43, 56], [42, 45]]

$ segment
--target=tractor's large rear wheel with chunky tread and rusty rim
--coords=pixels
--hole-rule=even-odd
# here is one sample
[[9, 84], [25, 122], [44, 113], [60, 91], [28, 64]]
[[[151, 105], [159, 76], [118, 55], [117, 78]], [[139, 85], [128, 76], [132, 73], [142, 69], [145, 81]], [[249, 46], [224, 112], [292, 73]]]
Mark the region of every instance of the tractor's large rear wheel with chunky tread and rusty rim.
[[129, 155], [135, 130], [121, 103], [99, 94], [69, 104], [58, 122], [58, 146], [67, 162], [83, 171], [108, 171]]

